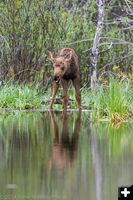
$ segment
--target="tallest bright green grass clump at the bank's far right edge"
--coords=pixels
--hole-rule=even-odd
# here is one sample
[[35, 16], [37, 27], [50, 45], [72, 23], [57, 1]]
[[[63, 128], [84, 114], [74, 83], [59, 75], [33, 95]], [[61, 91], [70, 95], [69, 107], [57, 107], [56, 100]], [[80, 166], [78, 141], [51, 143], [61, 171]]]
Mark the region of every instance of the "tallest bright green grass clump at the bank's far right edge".
[[110, 78], [109, 89], [106, 92], [106, 105], [109, 118], [127, 119], [132, 110], [133, 92], [129, 84]]

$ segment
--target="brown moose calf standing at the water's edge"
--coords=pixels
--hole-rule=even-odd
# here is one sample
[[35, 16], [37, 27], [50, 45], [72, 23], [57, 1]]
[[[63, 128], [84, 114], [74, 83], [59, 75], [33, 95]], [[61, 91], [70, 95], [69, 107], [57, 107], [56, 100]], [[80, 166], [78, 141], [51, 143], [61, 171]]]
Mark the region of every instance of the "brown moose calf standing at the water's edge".
[[73, 85], [76, 91], [76, 100], [81, 108], [81, 94], [80, 94], [80, 73], [79, 73], [79, 64], [78, 58], [73, 49], [64, 48], [59, 53], [58, 56], [55, 58], [50, 51], [46, 51], [49, 60], [53, 62], [54, 67], [54, 86], [53, 86], [53, 94], [52, 100], [50, 103], [50, 109], [52, 109], [52, 105], [54, 102], [55, 95], [60, 84], [63, 87], [64, 92], [64, 110], [67, 109], [68, 104], [68, 87], [69, 81], [72, 80]]

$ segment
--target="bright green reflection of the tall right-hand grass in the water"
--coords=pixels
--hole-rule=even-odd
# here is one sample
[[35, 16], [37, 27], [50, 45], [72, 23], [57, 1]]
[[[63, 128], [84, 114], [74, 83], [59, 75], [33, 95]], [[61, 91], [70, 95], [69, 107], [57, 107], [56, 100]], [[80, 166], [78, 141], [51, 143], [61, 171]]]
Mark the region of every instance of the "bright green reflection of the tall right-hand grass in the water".
[[[110, 158], [117, 158], [125, 150], [133, 154], [133, 124], [122, 123], [119, 127], [114, 127], [112, 123], [98, 123], [92, 126], [92, 134], [97, 133], [97, 139], [101, 142]], [[105, 147], [106, 146], [106, 147]]]

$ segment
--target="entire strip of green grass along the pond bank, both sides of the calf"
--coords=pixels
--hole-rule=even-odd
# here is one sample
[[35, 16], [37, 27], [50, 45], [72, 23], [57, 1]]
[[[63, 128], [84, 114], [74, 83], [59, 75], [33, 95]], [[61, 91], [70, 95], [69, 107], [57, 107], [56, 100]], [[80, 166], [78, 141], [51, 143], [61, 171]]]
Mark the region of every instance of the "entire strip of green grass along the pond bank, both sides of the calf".
[[[62, 93], [63, 91], [59, 90], [56, 98], [60, 98]], [[73, 87], [69, 89], [68, 94], [73, 100], [68, 108], [78, 108]], [[0, 88], [0, 108], [14, 110], [48, 108], [51, 96], [52, 88], [43, 93], [38, 86], [5, 84]], [[91, 110], [89, 117], [92, 120], [106, 119], [121, 122], [133, 117], [133, 89], [127, 81], [120, 81], [111, 76], [109, 84], [106, 87], [99, 86], [97, 91], [91, 91], [86, 86], [81, 88], [81, 96], [82, 104]], [[53, 105], [53, 109], [61, 108], [62, 104]]]

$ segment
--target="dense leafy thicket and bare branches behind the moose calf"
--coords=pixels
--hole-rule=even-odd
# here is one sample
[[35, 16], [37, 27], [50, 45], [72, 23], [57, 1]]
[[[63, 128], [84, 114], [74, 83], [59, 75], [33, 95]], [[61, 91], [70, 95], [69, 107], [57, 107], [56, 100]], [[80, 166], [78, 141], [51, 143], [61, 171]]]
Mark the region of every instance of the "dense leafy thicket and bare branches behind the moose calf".
[[[105, 0], [97, 57], [97, 83], [109, 74], [133, 81], [133, 2]], [[97, 29], [99, 0], [1, 0], [0, 83], [51, 88], [53, 68], [46, 50], [63, 47], [79, 58], [81, 87], [90, 87], [90, 57]]]

